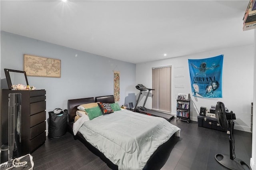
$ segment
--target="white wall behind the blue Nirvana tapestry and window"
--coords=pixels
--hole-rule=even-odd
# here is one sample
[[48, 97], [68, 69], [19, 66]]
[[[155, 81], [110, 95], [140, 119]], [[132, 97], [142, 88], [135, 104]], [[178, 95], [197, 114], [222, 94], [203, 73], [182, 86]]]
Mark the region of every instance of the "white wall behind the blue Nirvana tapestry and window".
[[[222, 101], [229, 111], [236, 113], [235, 129], [250, 132], [251, 103], [253, 102], [253, 75], [254, 75], [254, 45], [219, 49], [216, 51], [202, 52], [183, 57], [152, 61], [136, 64], [136, 83], [142, 83], [146, 87], [152, 87], [152, 67], [172, 66], [172, 114], [176, 115], [176, 98], [178, 93], [192, 93], [190, 87], [190, 75], [188, 59], [203, 59], [224, 55], [222, 69], [222, 98], [191, 97], [192, 112], [190, 119], [197, 121], [200, 107], [210, 108]], [[178, 77], [177, 77], [178, 76]], [[180, 77], [182, 76], [182, 77]], [[184, 88], [175, 88], [175, 85]], [[136, 91], [138, 95], [139, 91]], [[143, 96], [143, 95], [142, 95]], [[144, 96], [143, 96], [144, 97]], [[143, 105], [144, 98], [138, 106]], [[152, 108], [152, 100], [149, 97], [147, 108]], [[194, 110], [195, 109], [195, 110]]]

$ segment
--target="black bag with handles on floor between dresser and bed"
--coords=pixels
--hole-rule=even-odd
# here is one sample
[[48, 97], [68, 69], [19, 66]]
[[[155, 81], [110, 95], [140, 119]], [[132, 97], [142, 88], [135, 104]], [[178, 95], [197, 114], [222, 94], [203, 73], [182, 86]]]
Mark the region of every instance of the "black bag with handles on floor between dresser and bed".
[[48, 138], [60, 138], [67, 131], [68, 125], [68, 110], [64, 111], [60, 108], [48, 112]]

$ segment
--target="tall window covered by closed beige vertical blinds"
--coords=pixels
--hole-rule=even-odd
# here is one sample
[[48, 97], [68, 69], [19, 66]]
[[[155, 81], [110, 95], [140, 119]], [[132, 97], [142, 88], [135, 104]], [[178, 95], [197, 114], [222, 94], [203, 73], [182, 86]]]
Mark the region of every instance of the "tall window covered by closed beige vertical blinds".
[[172, 67], [152, 68], [152, 109], [171, 111]]

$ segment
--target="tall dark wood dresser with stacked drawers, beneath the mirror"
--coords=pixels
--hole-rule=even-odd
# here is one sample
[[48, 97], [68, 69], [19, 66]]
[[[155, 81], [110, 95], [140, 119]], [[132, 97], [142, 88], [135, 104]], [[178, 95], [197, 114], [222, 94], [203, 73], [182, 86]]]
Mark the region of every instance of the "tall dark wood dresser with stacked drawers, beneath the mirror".
[[21, 93], [21, 153], [32, 153], [46, 140], [46, 91], [2, 89], [2, 144], [8, 143], [9, 93]]

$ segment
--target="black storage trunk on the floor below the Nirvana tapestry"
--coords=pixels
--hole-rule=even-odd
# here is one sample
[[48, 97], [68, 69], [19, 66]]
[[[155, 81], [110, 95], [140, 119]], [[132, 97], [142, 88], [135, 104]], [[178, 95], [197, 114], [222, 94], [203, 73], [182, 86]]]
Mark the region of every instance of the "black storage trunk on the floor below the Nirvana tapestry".
[[211, 128], [211, 129], [220, 130], [220, 131], [225, 132], [225, 130], [222, 129], [220, 127], [220, 125], [218, 124], [218, 121], [216, 118], [198, 115], [197, 120], [198, 120], [199, 127]]

